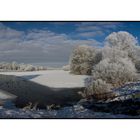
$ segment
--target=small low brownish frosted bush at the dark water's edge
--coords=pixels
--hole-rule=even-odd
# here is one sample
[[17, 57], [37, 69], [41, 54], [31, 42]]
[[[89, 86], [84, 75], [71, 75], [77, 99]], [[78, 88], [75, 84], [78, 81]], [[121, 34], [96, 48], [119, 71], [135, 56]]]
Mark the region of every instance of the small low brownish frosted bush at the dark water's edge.
[[112, 85], [102, 79], [92, 79], [86, 87], [86, 97], [92, 96], [94, 99], [102, 100], [114, 96], [111, 93]]

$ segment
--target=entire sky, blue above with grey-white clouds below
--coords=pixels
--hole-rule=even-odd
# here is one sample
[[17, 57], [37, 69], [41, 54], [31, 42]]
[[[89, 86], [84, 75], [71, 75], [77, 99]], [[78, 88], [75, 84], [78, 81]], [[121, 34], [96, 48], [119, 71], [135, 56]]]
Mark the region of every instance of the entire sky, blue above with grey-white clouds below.
[[102, 47], [105, 37], [117, 31], [140, 42], [140, 22], [1, 22], [0, 60], [66, 62], [75, 46]]

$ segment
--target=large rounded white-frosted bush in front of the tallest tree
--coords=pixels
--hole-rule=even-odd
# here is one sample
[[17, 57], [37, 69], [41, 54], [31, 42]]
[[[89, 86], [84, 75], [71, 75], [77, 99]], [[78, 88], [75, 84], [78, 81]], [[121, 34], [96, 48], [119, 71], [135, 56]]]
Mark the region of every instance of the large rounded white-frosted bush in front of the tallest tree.
[[102, 79], [117, 87], [136, 80], [136, 69], [128, 58], [102, 60], [94, 67], [93, 78]]

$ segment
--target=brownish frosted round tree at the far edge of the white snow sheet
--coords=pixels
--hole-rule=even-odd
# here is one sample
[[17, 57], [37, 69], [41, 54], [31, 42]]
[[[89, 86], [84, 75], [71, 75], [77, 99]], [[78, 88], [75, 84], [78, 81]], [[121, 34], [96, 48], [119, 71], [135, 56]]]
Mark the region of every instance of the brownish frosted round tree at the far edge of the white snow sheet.
[[89, 46], [78, 46], [70, 58], [70, 71], [73, 74], [90, 75], [94, 64], [95, 49]]

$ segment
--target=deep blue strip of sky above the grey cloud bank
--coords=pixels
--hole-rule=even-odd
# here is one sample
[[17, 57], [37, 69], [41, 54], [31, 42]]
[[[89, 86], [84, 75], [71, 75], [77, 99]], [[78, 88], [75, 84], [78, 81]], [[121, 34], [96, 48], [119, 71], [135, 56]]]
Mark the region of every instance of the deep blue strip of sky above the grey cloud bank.
[[[40, 29], [50, 30], [58, 34], [64, 33], [73, 39], [94, 38], [98, 41], [104, 41], [108, 34], [116, 31], [128, 31], [138, 39], [140, 38], [140, 22], [4, 22], [3, 24], [20, 31]], [[87, 32], [89, 35], [86, 36]]]

